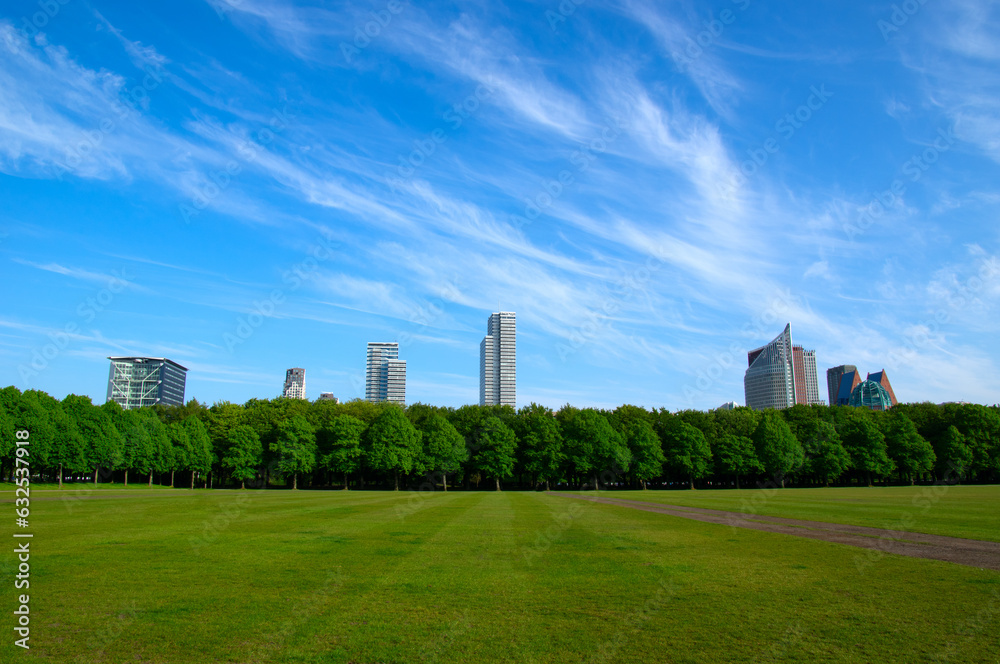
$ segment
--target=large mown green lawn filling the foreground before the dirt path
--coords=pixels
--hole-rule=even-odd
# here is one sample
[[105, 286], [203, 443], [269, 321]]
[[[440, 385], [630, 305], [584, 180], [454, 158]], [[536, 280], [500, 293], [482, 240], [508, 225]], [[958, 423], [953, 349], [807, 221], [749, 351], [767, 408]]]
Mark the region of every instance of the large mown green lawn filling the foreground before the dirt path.
[[32, 647], [5, 581], [4, 661], [1000, 661], [1000, 574], [971, 567], [538, 493], [80, 489], [32, 492]]

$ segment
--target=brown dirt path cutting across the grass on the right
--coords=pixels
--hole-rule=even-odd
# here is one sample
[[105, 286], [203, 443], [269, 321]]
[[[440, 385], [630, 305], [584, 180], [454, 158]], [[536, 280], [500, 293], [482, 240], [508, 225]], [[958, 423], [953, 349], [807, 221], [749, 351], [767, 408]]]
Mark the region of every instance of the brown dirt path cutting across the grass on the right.
[[[900, 556], [929, 558], [931, 560], [945, 560], [950, 563], [1000, 571], [1000, 542], [984, 542], [958, 537], [944, 537], [942, 535], [927, 535], [905, 530], [847, 526], [839, 523], [824, 523], [822, 521], [802, 521], [800, 519], [786, 519], [777, 516], [747, 515], [740, 512], [725, 512], [700, 507], [679, 507], [676, 505], [662, 505], [646, 501], [604, 498], [593, 495], [587, 496], [556, 492], [552, 492], [552, 495], [605, 503], [607, 505], [631, 507], [646, 512], [669, 514], [684, 519], [716, 523], [733, 528], [750, 528], [769, 533], [809, 537], [823, 540], [824, 542], [836, 542], [838, 544], [849, 544], [865, 549], [874, 549], [881, 553], [894, 553]], [[877, 559], [875, 556], [866, 557]]]

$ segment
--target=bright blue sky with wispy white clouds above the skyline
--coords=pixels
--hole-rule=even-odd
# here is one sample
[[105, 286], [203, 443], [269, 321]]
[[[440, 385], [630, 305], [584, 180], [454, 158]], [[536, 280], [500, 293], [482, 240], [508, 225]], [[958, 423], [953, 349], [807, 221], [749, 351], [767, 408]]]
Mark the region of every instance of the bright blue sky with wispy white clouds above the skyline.
[[8, 1], [0, 384], [743, 403], [792, 325], [903, 401], [1000, 401], [995, 2]]

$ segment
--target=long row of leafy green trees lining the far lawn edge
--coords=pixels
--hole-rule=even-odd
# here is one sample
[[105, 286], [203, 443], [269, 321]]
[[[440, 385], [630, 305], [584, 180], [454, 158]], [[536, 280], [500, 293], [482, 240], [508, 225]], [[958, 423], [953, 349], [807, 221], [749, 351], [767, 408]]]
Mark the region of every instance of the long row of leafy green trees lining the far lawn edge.
[[[449, 480], [550, 487], [645, 488], [994, 481], [1000, 477], [1000, 409], [902, 404], [888, 412], [795, 406], [711, 412], [613, 411], [532, 404], [463, 406], [295, 399], [122, 410], [87, 397], [58, 401], [0, 390], [0, 471], [13, 467], [14, 431], [31, 434], [36, 473], [152, 484], [400, 486]], [[189, 484], [188, 484], [189, 483]]]

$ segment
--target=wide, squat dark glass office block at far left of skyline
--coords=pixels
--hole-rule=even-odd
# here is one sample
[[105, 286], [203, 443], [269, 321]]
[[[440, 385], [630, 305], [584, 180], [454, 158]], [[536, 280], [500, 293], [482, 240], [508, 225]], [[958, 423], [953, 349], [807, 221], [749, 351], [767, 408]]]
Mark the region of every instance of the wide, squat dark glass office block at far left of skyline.
[[165, 357], [109, 357], [108, 401], [125, 409], [184, 405], [187, 367]]

